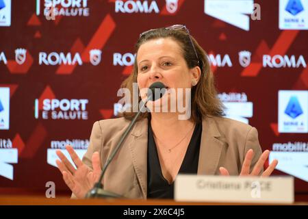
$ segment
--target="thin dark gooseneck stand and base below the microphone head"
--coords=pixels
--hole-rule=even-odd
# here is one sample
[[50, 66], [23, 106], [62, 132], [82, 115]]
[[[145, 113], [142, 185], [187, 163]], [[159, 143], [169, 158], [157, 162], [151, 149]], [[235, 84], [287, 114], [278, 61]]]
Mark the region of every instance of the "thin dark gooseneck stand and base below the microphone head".
[[123, 133], [123, 136], [120, 138], [120, 141], [118, 142], [118, 144], [116, 144], [116, 147], [114, 148], [114, 151], [112, 151], [110, 157], [108, 157], [107, 162], [103, 166], [103, 170], [101, 171], [101, 176], [99, 177], [99, 181], [97, 181], [97, 183], [94, 184], [94, 187], [92, 188], [92, 190], [90, 190], [86, 194], [86, 198], [125, 198], [125, 197], [120, 196], [119, 194], [116, 194], [114, 192], [109, 192], [109, 191], [104, 190], [103, 189], [103, 184], [101, 183], [101, 181], [103, 180], [103, 176], [105, 175], [107, 166], [109, 166], [110, 162], [112, 162], [112, 159], [114, 158], [116, 153], [118, 153], [118, 150], [122, 146], [124, 140], [127, 138], [127, 135], [129, 134], [129, 132], [131, 131], [133, 126], [136, 124], [138, 116], [141, 114], [141, 112], [144, 109], [146, 103], [151, 98], [152, 98], [152, 96], [150, 95], [150, 96], [148, 96], [148, 98], [146, 99], [145, 102], [142, 101], [142, 103], [143, 103], [142, 107], [140, 108], [140, 110], [136, 114], [136, 116], [133, 118], [133, 120], [131, 120], [131, 123], [129, 124], [129, 126], [125, 130], [125, 133]]

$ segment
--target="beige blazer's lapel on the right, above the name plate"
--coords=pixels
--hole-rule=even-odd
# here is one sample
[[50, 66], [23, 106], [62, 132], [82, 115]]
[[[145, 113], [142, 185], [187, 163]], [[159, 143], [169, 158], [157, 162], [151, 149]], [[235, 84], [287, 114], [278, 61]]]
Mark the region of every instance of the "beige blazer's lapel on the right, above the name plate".
[[198, 161], [198, 175], [215, 175], [220, 154], [226, 145], [222, 141], [218, 127], [213, 118], [202, 121], [201, 145]]

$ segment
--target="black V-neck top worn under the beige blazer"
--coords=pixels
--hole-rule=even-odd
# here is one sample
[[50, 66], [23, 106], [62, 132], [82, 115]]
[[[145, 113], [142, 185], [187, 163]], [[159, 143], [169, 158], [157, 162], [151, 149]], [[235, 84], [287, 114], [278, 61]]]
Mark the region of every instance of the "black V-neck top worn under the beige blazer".
[[[174, 198], [174, 182], [170, 185], [162, 175], [162, 168], [159, 163], [157, 148], [153, 138], [151, 121], [149, 119], [148, 126], [148, 198]], [[196, 124], [194, 133], [190, 139], [190, 144], [185, 153], [183, 163], [179, 169], [179, 173], [196, 174], [198, 170], [198, 160], [200, 152], [200, 142], [202, 133], [202, 123]]]

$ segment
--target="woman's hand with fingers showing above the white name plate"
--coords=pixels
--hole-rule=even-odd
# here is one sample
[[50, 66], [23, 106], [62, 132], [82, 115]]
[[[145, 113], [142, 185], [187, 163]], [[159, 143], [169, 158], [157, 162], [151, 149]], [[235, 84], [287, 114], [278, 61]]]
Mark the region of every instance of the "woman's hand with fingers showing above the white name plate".
[[[257, 164], [255, 164], [255, 167], [253, 168], [253, 171], [250, 172], [251, 169], [251, 161], [253, 160], [253, 149], [249, 149], [246, 153], [244, 163], [242, 166], [242, 171], [240, 172], [240, 176], [259, 176], [260, 171], [262, 170], [264, 163], [266, 162], [266, 159], [268, 159], [268, 155], [270, 155], [270, 151], [266, 150], [262, 155], [260, 156], [259, 160], [257, 161]], [[270, 166], [264, 170], [261, 177], [268, 177], [272, 174], [272, 171], [274, 171], [274, 168], [276, 168], [278, 164], [278, 160], [274, 159]], [[229, 176], [229, 171], [224, 168], [219, 168], [220, 175], [222, 176]]]

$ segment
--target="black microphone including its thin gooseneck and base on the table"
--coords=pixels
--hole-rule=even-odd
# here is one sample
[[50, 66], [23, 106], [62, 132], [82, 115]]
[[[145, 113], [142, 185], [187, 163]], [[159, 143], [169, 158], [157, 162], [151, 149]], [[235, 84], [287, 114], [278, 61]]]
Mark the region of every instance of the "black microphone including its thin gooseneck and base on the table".
[[[160, 95], [156, 95], [157, 93], [155, 91], [160, 91], [159, 92]], [[101, 183], [101, 181], [103, 180], [103, 176], [105, 175], [105, 172], [106, 172], [107, 167], [109, 166], [110, 162], [112, 162], [112, 159], [114, 158], [114, 156], [116, 155], [116, 153], [118, 152], [120, 147], [122, 146], [124, 140], [127, 138], [128, 134], [131, 131], [131, 129], [133, 128], [133, 126], [135, 126], [137, 118], [141, 114], [141, 112], [144, 109], [146, 103], [148, 101], [156, 101], [157, 99], [162, 98], [162, 96], [164, 96], [165, 92], [166, 92], [166, 86], [164, 86], [164, 83], [157, 81], [157, 82], [151, 84], [151, 86], [149, 87], [149, 90], [147, 92], [147, 95], [146, 95], [147, 96], [146, 101], [142, 101], [143, 102], [142, 107], [140, 107], [139, 112], [133, 117], [133, 120], [131, 120], [131, 123], [129, 123], [129, 126], [127, 127], [127, 129], [123, 133], [123, 136], [120, 138], [118, 144], [116, 144], [114, 151], [112, 151], [110, 157], [108, 157], [105, 165], [103, 166], [103, 170], [101, 171], [101, 176], [99, 177], [99, 181], [97, 181], [97, 183], [94, 184], [94, 187], [92, 188], [92, 190], [90, 190], [86, 194], [86, 198], [125, 198], [125, 197], [120, 196], [119, 194], [116, 194], [114, 192], [109, 192], [109, 191], [104, 190], [103, 184]]]

